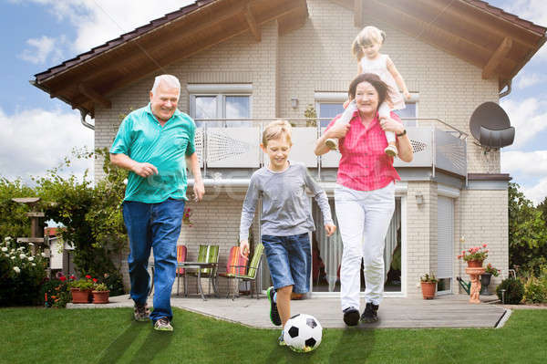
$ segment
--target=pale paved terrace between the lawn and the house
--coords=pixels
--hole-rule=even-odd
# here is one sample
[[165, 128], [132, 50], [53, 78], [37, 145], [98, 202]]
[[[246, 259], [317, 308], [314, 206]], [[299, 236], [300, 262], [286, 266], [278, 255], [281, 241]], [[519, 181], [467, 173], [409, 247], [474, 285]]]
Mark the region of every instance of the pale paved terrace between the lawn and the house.
[[[485, 301], [496, 296], [481, 296], [483, 303], [470, 304], [469, 296], [449, 295], [436, 299], [385, 298], [378, 311], [379, 321], [356, 328], [497, 328], [511, 315], [511, 309]], [[152, 299], [149, 299], [151, 306]], [[172, 296], [171, 305], [204, 316], [235, 322], [253, 328], [277, 328], [268, 314], [268, 300], [249, 296], [209, 298]], [[68, 304], [67, 308], [133, 307], [129, 295], [110, 297], [106, 305]], [[319, 319], [323, 328], [346, 328], [337, 297], [314, 297], [291, 302], [292, 313], [305, 313]], [[363, 308], [363, 307], [362, 307]]]

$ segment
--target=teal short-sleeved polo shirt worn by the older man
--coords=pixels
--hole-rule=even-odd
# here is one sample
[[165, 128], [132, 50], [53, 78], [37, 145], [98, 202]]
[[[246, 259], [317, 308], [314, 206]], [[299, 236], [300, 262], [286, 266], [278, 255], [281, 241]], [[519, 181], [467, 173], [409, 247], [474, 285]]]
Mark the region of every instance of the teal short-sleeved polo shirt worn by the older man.
[[196, 124], [177, 109], [161, 127], [148, 106], [137, 109], [119, 125], [110, 153], [123, 153], [133, 161], [156, 166], [158, 174], [142, 178], [129, 172], [124, 201], [161, 203], [186, 198], [186, 156], [195, 152]]

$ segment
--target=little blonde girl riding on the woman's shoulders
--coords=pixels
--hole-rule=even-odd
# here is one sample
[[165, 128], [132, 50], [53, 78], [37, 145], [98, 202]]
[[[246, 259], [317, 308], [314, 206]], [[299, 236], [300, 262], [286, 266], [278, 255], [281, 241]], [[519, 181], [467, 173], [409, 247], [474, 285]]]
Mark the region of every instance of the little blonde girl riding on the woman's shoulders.
[[[376, 26], [365, 26], [361, 32], [356, 36], [352, 44], [352, 53], [357, 58], [357, 70], [358, 74], [362, 73], [374, 73], [387, 83], [389, 86], [389, 98], [390, 102], [383, 102], [378, 108], [379, 119], [386, 119], [389, 117], [389, 113], [393, 109], [405, 109], [405, 101], [401, 94], [398, 92], [398, 88], [403, 90], [405, 99], [410, 99], [410, 93], [408, 92], [405, 80], [398, 73], [397, 68], [393, 64], [391, 58], [387, 55], [380, 53], [380, 47], [386, 40], [386, 33], [378, 29]], [[397, 88], [398, 86], [398, 88]], [[355, 102], [350, 102], [342, 114], [342, 117], [336, 122], [347, 124], [353, 117], [356, 111]], [[397, 155], [397, 147], [395, 146], [395, 134], [391, 131], [386, 131], [387, 148], [385, 150], [387, 155], [395, 157]], [[331, 149], [335, 150], [338, 146], [338, 140], [328, 139], [325, 140], [325, 144]]]

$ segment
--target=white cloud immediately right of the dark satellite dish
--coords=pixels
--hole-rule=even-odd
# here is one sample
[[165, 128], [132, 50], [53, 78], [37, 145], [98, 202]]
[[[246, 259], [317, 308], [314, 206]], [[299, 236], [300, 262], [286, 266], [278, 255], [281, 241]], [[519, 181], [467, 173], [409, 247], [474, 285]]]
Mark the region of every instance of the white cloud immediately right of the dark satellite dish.
[[501, 108], [505, 109], [515, 128], [514, 148], [519, 148], [534, 138], [540, 131], [547, 129], [547, 102], [529, 98], [519, 101], [502, 99]]

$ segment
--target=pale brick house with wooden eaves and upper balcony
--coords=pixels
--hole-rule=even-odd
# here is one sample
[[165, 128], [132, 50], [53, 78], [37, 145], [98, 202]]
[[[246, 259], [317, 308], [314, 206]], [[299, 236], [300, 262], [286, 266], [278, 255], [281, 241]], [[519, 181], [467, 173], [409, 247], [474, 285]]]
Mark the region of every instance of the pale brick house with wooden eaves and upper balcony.
[[[456, 277], [468, 278], [456, 256], [476, 244], [489, 244], [488, 261], [507, 272], [511, 177], [500, 171], [500, 151], [486, 151], [470, 136], [469, 122], [481, 103], [511, 91], [547, 29], [486, 2], [200, 0], [36, 74], [34, 84], [80, 109], [96, 147], [109, 147], [119, 115], [149, 102], [155, 76], [180, 78], [179, 107], [200, 127], [207, 192], [202, 203], [188, 203], [193, 226], [183, 227], [180, 244], [190, 259], [197, 245], [220, 244], [222, 269], [238, 243], [249, 178], [264, 162], [258, 145], [265, 122], [287, 119], [299, 127], [291, 158], [307, 164], [332, 200], [336, 156], [316, 158], [312, 145], [342, 108], [356, 76], [350, 45], [366, 25], [386, 31], [382, 51], [413, 95], [401, 116], [415, 158], [396, 161], [402, 181], [387, 236], [386, 296], [418, 296], [427, 272], [441, 278], [439, 293], [458, 293]], [[306, 128], [310, 107], [324, 119]], [[253, 233], [260, 235], [257, 224]], [[340, 239], [327, 241], [317, 230], [313, 240], [313, 295], [337, 295]], [[261, 279], [269, 286], [266, 265]]]

